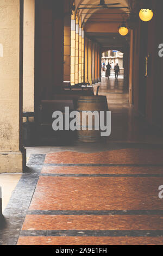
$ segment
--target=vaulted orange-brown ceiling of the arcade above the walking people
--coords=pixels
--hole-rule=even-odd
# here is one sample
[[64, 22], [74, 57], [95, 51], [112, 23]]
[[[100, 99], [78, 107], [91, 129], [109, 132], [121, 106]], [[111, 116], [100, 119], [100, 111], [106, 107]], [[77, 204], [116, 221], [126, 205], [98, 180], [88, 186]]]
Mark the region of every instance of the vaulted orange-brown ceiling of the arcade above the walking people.
[[128, 0], [105, 0], [105, 4], [112, 4], [105, 8], [98, 5], [100, 0], [76, 0], [75, 3], [86, 36], [98, 42], [103, 50], [129, 46], [130, 35], [121, 36], [118, 33], [118, 26], [129, 15]]

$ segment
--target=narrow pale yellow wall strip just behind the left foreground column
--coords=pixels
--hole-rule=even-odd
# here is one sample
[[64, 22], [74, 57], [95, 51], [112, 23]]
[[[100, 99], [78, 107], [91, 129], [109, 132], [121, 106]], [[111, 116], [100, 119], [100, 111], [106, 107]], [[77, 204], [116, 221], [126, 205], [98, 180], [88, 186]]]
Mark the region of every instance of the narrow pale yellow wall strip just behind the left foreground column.
[[35, 0], [24, 0], [23, 111], [34, 111]]

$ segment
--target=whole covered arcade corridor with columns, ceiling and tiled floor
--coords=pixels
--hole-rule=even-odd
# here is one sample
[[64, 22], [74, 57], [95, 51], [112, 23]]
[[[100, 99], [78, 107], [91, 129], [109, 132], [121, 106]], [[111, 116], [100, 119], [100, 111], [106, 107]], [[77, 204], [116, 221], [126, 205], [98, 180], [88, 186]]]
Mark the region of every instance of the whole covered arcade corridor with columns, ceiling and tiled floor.
[[[162, 245], [159, 1], [143, 1], [154, 10], [149, 22], [141, 0], [8, 1], [0, 3], [0, 245]], [[112, 49], [121, 52], [118, 79], [101, 70]], [[111, 111], [109, 137], [91, 131], [84, 142], [52, 129], [53, 112], [85, 112], [79, 102]]]

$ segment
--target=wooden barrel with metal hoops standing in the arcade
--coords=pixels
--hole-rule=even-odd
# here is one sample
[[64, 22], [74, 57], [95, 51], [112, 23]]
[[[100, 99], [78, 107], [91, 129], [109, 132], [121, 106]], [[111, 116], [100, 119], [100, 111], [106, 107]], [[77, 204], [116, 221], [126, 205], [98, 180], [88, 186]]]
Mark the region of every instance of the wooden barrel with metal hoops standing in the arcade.
[[[101, 130], [95, 130], [95, 117], [92, 115], [92, 130], [89, 130], [87, 111], [108, 111], [106, 96], [80, 96], [77, 102], [77, 111], [80, 113], [80, 130], [77, 131], [78, 140], [81, 142], [99, 142], [105, 137], [101, 136]], [[83, 124], [83, 118], [86, 118], [86, 127]], [[91, 117], [90, 117], [91, 118]], [[90, 127], [91, 128], [91, 127]]]

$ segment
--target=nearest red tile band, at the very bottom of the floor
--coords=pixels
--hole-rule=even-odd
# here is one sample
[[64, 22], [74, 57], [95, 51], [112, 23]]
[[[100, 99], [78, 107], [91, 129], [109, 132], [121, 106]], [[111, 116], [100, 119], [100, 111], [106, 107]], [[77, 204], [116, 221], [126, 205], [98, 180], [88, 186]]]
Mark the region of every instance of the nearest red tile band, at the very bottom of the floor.
[[162, 245], [163, 237], [20, 236], [17, 245]]

